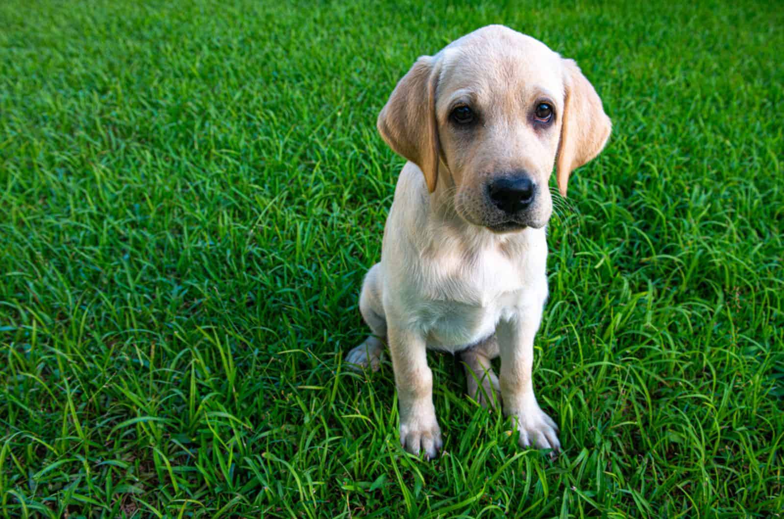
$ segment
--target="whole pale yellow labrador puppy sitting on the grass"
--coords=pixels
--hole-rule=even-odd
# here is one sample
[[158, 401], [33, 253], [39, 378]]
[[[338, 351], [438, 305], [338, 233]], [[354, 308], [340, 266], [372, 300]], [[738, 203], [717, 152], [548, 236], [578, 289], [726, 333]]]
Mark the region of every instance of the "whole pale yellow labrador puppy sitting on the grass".
[[347, 362], [377, 368], [387, 341], [409, 452], [433, 458], [442, 445], [426, 348], [459, 353], [482, 405], [499, 391], [521, 445], [557, 451], [531, 373], [547, 298], [548, 180], [555, 165], [566, 194], [569, 173], [604, 147], [611, 122], [599, 96], [574, 61], [492, 25], [420, 57], [378, 129], [408, 162], [360, 296], [372, 336]]

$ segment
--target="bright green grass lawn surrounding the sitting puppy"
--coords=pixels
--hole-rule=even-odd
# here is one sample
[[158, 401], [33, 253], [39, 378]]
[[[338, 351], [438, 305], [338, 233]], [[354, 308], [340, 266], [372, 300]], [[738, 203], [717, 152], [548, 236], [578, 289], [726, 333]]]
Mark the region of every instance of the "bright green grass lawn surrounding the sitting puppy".
[[[758, 2], [0, 4], [0, 514], [779, 517], [784, 10]], [[430, 354], [401, 451], [357, 298], [416, 59], [503, 23], [614, 122], [550, 225], [550, 462]]]

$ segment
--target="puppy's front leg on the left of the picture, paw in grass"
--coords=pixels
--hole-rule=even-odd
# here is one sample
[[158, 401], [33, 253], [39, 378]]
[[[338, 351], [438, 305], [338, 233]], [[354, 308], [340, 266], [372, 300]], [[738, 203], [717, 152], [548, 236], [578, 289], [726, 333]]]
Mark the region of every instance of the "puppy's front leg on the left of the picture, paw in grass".
[[412, 454], [434, 459], [441, 450], [441, 429], [433, 406], [433, 372], [427, 367], [426, 343], [416, 332], [389, 326], [390, 356], [397, 387], [400, 442]]

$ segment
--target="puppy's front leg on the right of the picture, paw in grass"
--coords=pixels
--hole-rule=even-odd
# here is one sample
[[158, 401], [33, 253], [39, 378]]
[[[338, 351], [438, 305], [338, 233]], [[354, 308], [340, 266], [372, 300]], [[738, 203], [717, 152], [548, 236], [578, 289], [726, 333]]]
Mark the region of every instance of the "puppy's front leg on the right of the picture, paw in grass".
[[561, 448], [558, 427], [536, 401], [532, 382], [534, 336], [542, 320], [542, 307], [526, 307], [495, 328], [501, 354], [499, 385], [503, 412], [517, 421], [520, 445]]

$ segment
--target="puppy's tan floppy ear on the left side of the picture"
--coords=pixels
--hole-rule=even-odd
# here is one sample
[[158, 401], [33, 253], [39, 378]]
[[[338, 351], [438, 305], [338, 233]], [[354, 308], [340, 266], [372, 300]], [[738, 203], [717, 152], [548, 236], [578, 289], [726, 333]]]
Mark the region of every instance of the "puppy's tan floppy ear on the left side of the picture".
[[436, 121], [436, 87], [441, 67], [433, 56], [421, 56], [397, 82], [376, 127], [387, 144], [419, 166], [432, 193], [441, 154]]

